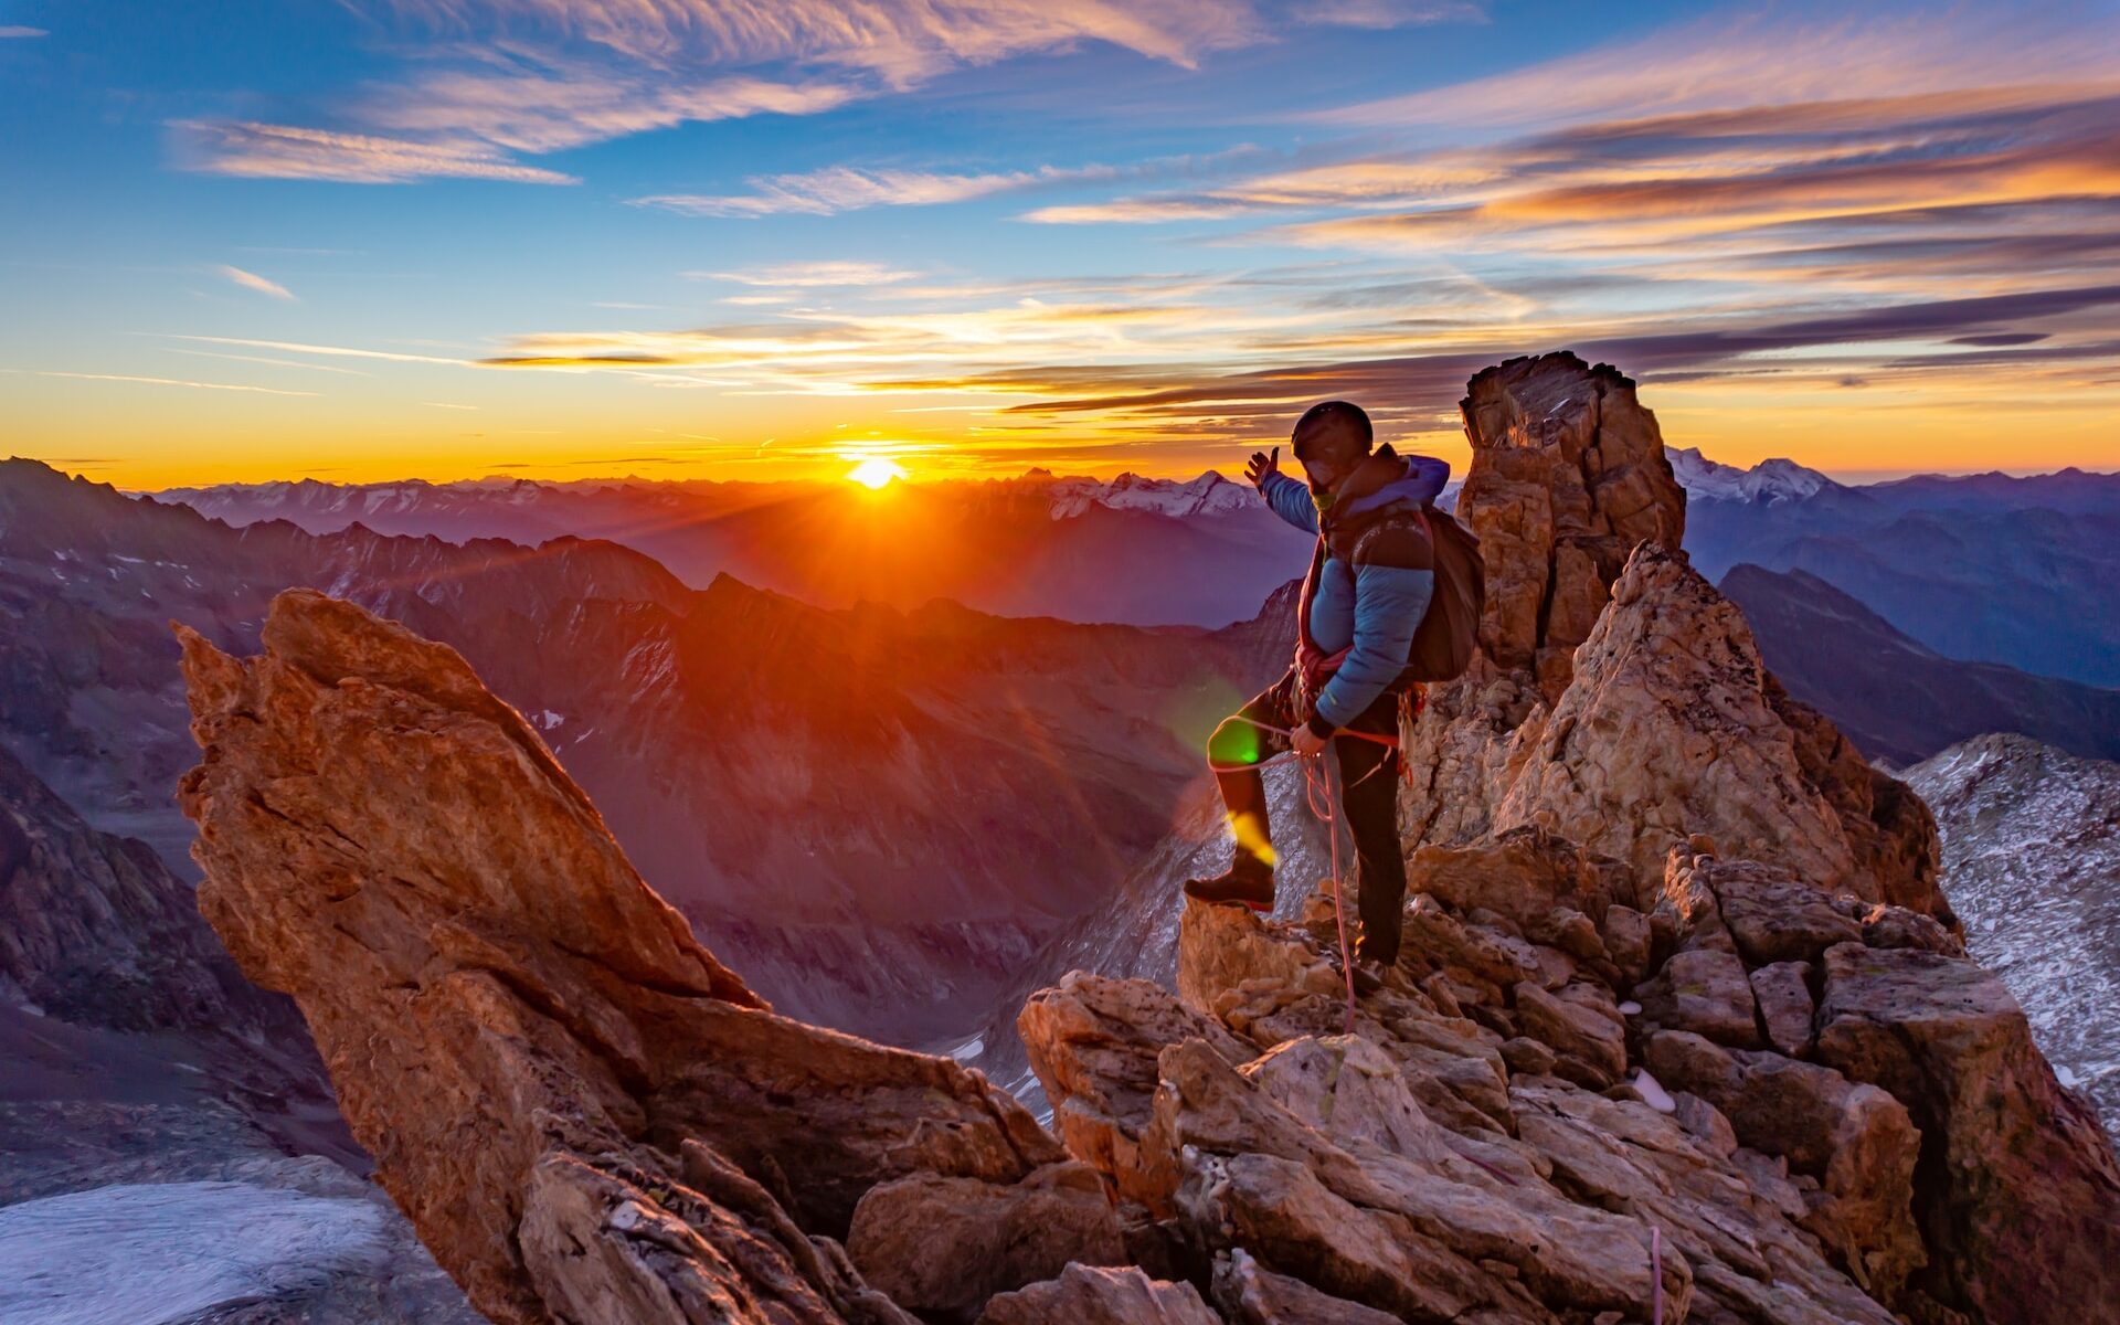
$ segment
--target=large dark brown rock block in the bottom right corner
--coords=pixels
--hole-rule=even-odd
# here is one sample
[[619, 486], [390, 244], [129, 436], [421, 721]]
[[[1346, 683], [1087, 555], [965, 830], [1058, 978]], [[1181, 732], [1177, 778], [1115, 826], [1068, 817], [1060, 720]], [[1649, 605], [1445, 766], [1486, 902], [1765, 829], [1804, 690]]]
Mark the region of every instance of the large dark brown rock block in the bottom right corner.
[[1919, 948], [1832, 948], [1817, 1054], [1921, 1128], [1914, 1215], [1938, 1255], [1919, 1283], [1938, 1300], [2025, 1325], [2120, 1302], [2120, 1164], [1995, 975]]

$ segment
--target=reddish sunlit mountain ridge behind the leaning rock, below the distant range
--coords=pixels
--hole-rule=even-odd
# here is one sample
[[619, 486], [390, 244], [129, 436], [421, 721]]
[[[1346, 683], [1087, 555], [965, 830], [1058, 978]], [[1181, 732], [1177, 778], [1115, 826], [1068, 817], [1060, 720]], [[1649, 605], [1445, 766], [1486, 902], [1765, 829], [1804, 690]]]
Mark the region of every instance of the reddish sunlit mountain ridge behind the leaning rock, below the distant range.
[[288, 585], [454, 644], [776, 1003], [897, 1041], [967, 1030], [967, 1007], [1088, 912], [1168, 829], [1213, 721], [1276, 666], [1251, 625], [827, 611], [725, 575], [691, 589], [604, 541], [231, 528], [8, 462], [0, 740], [189, 871], [165, 623], [254, 647]]

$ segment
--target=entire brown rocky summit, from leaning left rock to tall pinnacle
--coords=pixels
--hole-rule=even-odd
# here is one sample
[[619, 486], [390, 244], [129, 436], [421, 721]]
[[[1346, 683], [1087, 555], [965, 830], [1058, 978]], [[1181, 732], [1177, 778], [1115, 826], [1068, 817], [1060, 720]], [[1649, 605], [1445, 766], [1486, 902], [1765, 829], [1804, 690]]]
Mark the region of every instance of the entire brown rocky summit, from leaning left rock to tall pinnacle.
[[1632, 382], [1465, 416], [1492, 591], [1406, 734], [1399, 965], [1355, 992], [1346, 886], [1189, 907], [1170, 984], [1024, 1003], [1052, 1130], [774, 1013], [462, 657], [322, 594], [180, 630], [201, 909], [511, 1325], [2101, 1319], [2120, 1164], [1919, 797], [1673, 551]]

